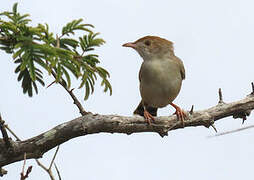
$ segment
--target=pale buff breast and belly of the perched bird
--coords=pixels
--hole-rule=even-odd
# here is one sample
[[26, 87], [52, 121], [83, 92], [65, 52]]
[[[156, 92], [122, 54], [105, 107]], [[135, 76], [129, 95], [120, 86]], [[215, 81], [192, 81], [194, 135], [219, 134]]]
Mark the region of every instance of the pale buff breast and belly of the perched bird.
[[164, 107], [178, 95], [180, 68], [173, 60], [144, 61], [140, 69], [140, 93], [145, 103]]

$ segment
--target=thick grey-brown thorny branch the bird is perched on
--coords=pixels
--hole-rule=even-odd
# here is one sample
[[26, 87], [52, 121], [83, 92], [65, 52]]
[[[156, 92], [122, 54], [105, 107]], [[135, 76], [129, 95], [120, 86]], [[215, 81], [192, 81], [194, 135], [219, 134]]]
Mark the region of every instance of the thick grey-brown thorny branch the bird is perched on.
[[[202, 111], [193, 111], [185, 120], [185, 127], [209, 127], [214, 121], [234, 116], [243, 118], [254, 109], [254, 95], [232, 102], [218, 105]], [[148, 125], [141, 116], [97, 115], [87, 114], [25, 141], [11, 141], [12, 149], [6, 148], [3, 139], [0, 139], [0, 167], [23, 160], [26, 152], [27, 159], [40, 158], [50, 149], [78, 136], [95, 133], [125, 133], [157, 132], [161, 136], [168, 131], [182, 128], [182, 124], [175, 115], [155, 118], [155, 123]]]

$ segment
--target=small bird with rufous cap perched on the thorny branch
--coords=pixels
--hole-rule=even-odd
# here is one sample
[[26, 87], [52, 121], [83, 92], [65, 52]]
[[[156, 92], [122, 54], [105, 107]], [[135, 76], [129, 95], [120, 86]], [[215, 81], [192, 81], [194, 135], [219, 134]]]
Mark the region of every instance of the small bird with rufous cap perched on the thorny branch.
[[185, 79], [185, 69], [183, 62], [174, 54], [173, 43], [157, 36], [145, 36], [123, 46], [135, 49], [144, 60], [139, 71], [142, 100], [134, 114], [144, 116], [151, 124], [157, 109], [170, 104], [184, 125], [186, 115], [173, 104], [173, 100]]

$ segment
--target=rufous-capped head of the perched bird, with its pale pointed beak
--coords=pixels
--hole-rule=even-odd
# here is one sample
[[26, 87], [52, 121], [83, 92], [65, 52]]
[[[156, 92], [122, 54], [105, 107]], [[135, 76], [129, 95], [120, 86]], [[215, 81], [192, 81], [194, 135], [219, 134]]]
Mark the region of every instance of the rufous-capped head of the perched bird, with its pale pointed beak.
[[135, 49], [145, 61], [174, 55], [173, 43], [157, 36], [145, 36], [123, 46]]

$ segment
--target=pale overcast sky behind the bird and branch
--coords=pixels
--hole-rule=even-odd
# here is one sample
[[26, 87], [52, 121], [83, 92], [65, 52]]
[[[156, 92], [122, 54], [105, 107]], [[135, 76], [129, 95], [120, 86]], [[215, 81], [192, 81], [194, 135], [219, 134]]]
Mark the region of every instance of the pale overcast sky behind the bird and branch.
[[[2, 0], [0, 11], [11, 10], [14, 2]], [[226, 102], [250, 93], [254, 80], [251, 0], [18, 2], [19, 11], [29, 13], [34, 25], [48, 23], [52, 32], [60, 33], [67, 22], [83, 18], [106, 40], [96, 52], [111, 74], [113, 95], [103, 93], [98, 85], [84, 102], [84, 92], [75, 90], [88, 111], [132, 115], [140, 101], [138, 71], [142, 59], [121, 45], [146, 35], [173, 41], [176, 55], [184, 62], [186, 80], [175, 100], [182, 108], [190, 109], [194, 104], [201, 110], [216, 105], [218, 88], [222, 88]], [[80, 116], [58, 85], [41, 87], [33, 98], [23, 95], [11, 56], [0, 51], [0, 58], [0, 112], [20, 138], [33, 137]], [[52, 82], [52, 78], [45, 80]], [[173, 112], [168, 106], [160, 109], [159, 115]], [[253, 124], [253, 119], [251, 115], [244, 126]], [[241, 120], [231, 117], [215, 125], [219, 132], [242, 127]], [[64, 180], [252, 180], [254, 129], [207, 138], [214, 134], [211, 128], [194, 127], [171, 131], [164, 138], [155, 133], [89, 135], [61, 145], [56, 163]], [[49, 164], [53, 153], [46, 153], [42, 161]], [[29, 179], [49, 179], [34, 160], [27, 165], [34, 166]], [[21, 168], [21, 162], [6, 166], [9, 172], [3, 179], [19, 179]]]

